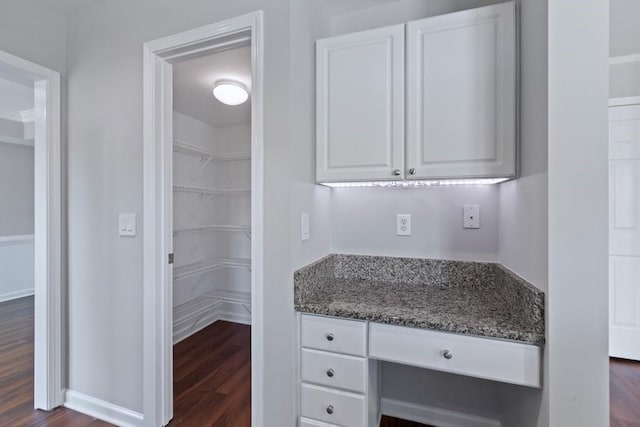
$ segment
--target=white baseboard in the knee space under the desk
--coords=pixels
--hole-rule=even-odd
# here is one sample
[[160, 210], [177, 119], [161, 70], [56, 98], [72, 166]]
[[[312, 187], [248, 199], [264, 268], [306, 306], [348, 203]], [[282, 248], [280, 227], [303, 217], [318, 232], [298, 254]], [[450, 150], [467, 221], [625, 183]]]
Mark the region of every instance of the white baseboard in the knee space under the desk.
[[381, 399], [384, 415], [437, 427], [502, 427], [498, 420], [449, 409], [418, 405], [394, 399]]

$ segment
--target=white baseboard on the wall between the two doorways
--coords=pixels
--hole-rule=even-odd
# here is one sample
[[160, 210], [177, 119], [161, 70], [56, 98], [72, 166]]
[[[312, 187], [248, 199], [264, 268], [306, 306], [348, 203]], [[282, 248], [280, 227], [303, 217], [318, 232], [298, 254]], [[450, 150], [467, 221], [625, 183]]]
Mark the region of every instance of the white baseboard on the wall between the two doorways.
[[64, 391], [64, 407], [121, 427], [141, 427], [139, 412], [73, 390]]

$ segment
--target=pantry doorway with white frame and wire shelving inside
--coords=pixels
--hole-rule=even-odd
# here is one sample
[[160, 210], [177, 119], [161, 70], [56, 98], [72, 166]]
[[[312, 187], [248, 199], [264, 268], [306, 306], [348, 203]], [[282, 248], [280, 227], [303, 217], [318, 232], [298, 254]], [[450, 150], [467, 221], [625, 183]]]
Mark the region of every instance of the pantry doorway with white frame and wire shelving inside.
[[[245, 58], [246, 77], [216, 78], [211, 67], [206, 71], [216, 58], [234, 55]], [[202, 86], [181, 86], [197, 80], [202, 70], [205, 86], [233, 80], [235, 87], [250, 91], [249, 102], [235, 110], [244, 110], [244, 119], [224, 108], [202, 115], [206, 108], [197, 100], [205, 93]], [[218, 321], [251, 324], [251, 418], [259, 425], [262, 13], [145, 44], [144, 84], [145, 425], [166, 425], [174, 416], [174, 341], [213, 333], [207, 326]], [[214, 86], [206, 88], [205, 104]], [[196, 90], [185, 97], [188, 102], [180, 101], [183, 94], [176, 90], [181, 88]]]

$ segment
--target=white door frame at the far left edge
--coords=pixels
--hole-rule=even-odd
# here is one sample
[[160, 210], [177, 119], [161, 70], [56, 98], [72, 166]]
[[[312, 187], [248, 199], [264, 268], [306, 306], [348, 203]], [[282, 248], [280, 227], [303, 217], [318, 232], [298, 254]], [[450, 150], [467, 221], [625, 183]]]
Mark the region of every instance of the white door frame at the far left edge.
[[60, 74], [7, 52], [0, 63], [34, 83], [35, 409], [62, 404]]

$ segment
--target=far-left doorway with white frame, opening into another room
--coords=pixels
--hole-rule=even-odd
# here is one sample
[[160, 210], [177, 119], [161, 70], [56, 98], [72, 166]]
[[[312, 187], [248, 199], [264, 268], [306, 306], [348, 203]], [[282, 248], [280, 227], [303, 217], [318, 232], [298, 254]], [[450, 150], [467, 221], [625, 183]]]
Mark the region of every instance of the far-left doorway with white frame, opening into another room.
[[13, 208], [0, 214], [6, 287], [0, 293], [5, 306], [17, 310], [9, 316], [21, 319], [21, 330], [33, 337], [25, 353], [33, 357], [25, 371], [33, 380], [31, 406], [51, 410], [62, 404], [60, 75], [0, 51], [0, 80], [3, 101], [15, 107], [3, 105], [0, 144], [4, 160], [15, 162], [15, 182], [4, 188]]

